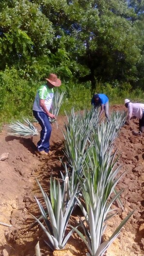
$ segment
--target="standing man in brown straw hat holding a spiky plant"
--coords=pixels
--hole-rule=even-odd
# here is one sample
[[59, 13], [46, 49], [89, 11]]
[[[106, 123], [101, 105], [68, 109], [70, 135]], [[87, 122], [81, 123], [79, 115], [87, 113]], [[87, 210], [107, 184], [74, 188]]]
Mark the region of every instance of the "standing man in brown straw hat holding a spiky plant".
[[48, 156], [49, 140], [51, 135], [51, 125], [49, 117], [55, 118], [55, 115], [50, 113], [53, 88], [61, 85], [61, 80], [56, 74], [49, 74], [46, 78], [47, 83], [39, 87], [33, 103], [33, 115], [39, 122], [42, 130], [40, 132], [40, 140], [37, 143], [37, 151], [40, 155]]

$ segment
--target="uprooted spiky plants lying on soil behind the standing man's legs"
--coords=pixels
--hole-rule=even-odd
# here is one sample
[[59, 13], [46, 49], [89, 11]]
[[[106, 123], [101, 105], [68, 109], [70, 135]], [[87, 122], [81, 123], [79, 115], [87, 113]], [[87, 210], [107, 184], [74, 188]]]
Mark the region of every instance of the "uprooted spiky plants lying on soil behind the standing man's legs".
[[19, 121], [16, 121], [9, 125], [8, 127], [8, 134], [10, 135], [21, 135], [21, 136], [34, 136], [38, 135], [38, 130], [33, 126], [33, 124], [29, 121], [29, 119], [24, 119], [25, 123], [28, 124], [28, 126], [22, 124]]

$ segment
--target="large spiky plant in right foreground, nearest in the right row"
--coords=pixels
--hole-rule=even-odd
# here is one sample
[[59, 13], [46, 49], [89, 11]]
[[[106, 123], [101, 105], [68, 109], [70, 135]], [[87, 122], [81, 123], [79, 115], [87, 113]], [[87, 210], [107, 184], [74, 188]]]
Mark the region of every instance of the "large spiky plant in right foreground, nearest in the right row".
[[77, 198], [77, 201], [87, 225], [85, 226], [80, 220], [84, 234], [75, 227], [73, 229], [84, 241], [91, 256], [102, 256], [106, 252], [133, 213], [132, 211], [128, 214], [109, 240], [101, 243], [102, 235], [106, 229], [105, 222], [115, 214], [111, 210], [112, 203], [122, 192], [120, 191], [112, 197], [112, 192], [122, 176], [118, 177], [119, 168], [115, 167], [115, 163], [115, 154], [112, 155], [112, 147], [109, 149], [108, 154], [103, 155], [103, 160], [101, 161], [96, 152], [96, 147], [92, 146], [89, 148], [82, 166], [83, 177], [79, 179], [85, 207], [79, 198]]

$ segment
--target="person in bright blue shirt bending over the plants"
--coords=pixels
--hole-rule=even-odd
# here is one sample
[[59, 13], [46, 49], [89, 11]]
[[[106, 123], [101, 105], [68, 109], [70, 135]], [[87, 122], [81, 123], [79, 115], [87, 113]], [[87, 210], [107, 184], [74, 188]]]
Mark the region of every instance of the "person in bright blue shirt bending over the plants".
[[102, 112], [105, 112], [105, 116], [108, 121], [110, 121], [110, 114], [109, 114], [109, 98], [105, 94], [94, 94], [93, 98], [91, 100], [91, 104], [96, 107], [101, 107], [101, 110], [99, 112], [99, 116], [102, 114]]

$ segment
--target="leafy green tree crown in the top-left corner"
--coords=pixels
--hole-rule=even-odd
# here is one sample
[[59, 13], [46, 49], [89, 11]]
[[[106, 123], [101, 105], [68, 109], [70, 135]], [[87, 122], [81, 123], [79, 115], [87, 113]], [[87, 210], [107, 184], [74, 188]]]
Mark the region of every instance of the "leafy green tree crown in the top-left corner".
[[43, 55], [54, 30], [39, 5], [29, 0], [0, 1], [0, 69]]

